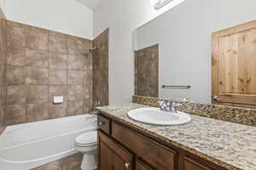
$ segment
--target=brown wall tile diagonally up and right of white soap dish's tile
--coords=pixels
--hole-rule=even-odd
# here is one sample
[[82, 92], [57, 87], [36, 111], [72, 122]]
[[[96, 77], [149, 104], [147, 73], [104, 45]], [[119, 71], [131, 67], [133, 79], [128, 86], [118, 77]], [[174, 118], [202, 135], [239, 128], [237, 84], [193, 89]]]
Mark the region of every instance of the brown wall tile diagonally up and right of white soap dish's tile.
[[84, 71], [68, 71], [69, 85], [83, 85]]

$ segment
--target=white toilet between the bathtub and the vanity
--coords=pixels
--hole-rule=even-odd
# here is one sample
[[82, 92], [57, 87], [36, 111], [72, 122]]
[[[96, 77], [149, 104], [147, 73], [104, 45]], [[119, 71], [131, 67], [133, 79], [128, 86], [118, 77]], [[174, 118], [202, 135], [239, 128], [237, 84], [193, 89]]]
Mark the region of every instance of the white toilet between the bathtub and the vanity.
[[76, 150], [84, 154], [81, 164], [82, 170], [96, 169], [97, 132], [91, 131], [81, 134], [75, 139]]

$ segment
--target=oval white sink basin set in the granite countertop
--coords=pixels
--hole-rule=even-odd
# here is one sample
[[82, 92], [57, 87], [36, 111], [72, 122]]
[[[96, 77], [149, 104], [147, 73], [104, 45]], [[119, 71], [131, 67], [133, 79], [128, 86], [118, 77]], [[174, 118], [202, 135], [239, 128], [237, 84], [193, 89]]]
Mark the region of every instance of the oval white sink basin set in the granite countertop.
[[141, 108], [128, 112], [128, 116], [137, 122], [152, 125], [181, 125], [191, 121], [189, 114], [177, 111], [171, 113], [160, 111], [160, 108]]

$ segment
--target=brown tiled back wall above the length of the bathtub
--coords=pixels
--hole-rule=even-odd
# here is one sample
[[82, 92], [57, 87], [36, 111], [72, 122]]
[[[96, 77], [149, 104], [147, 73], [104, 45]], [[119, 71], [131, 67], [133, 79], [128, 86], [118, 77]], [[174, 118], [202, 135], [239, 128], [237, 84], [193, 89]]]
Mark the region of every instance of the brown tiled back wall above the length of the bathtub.
[[[6, 20], [6, 125], [92, 109], [92, 41]], [[1, 81], [2, 82], [2, 81]], [[53, 104], [53, 96], [64, 103]]]

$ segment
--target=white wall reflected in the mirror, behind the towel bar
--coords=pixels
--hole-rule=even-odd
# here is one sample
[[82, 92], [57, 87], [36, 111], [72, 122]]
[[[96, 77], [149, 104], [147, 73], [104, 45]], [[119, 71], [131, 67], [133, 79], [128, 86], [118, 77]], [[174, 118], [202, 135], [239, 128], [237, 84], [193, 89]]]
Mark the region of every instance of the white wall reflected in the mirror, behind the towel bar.
[[137, 48], [160, 44], [160, 88], [164, 99], [211, 101], [211, 33], [256, 20], [255, 0], [187, 0], [137, 30]]

